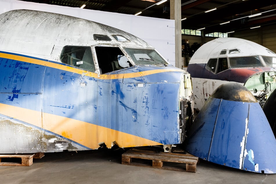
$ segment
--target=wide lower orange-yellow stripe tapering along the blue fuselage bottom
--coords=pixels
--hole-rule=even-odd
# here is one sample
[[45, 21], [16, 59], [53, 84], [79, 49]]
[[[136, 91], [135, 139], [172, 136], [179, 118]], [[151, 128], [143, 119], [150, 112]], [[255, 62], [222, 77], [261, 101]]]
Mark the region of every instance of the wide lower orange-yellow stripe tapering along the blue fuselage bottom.
[[[5, 116], [61, 135], [90, 149], [97, 149], [99, 144], [103, 142], [109, 148], [113, 143], [119, 147], [162, 145], [159, 142], [106, 127], [21, 107], [0, 103], [0, 112]], [[28, 133], [26, 132], [26, 134]]]

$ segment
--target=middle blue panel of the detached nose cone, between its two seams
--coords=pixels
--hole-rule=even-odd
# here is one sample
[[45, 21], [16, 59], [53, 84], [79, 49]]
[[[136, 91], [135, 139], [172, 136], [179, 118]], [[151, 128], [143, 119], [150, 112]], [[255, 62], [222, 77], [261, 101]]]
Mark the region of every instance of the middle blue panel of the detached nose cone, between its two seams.
[[240, 154], [243, 154], [240, 145], [245, 136], [248, 106], [246, 102], [222, 100], [209, 161], [239, 169]]

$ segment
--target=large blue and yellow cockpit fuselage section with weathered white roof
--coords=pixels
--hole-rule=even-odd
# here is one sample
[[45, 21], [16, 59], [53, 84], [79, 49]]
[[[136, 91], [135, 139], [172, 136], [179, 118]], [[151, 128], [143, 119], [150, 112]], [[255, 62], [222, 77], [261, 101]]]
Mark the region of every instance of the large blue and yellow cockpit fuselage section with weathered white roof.
[[[185, 139], [186, 119], [179, 116], [183, 100], [185, 107], [193, 103], [190, 74], [167, 63], [135, 64], [125, 48], [154, 50], [146, 42], [96, 22], [32, 10], [1, 14], [0, 25], [1, 154]], [[94, 40], [93, 34], [110, 40]], [[130, 66], [102, 74], [95, 52], [102, 45], [120, 48]], [[62, 63], [64, 46], [91, 48], [95, 71]]]

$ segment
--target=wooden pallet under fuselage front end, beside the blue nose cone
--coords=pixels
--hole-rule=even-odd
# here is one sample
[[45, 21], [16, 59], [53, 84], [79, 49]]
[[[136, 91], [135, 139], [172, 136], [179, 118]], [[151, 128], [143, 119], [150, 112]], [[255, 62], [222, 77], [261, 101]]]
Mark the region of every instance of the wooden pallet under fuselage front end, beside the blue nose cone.
[[[143, 160], [152, 160], [152, 165], [149, 163], [141, 162]], [[156, 151], [139, 148], [131, 149], [122, 154], [122, 164], [125, 165], [154, 167], [158, 169], [168, 169], [174, 171], [185, 171], [194, 173], [196, 172], [197, 161], [198, 157], [193, 156], [191, 154], [177, 154], [164, 152], [157, 153]], [[164, 162], [168, 165], [164, 165]]]

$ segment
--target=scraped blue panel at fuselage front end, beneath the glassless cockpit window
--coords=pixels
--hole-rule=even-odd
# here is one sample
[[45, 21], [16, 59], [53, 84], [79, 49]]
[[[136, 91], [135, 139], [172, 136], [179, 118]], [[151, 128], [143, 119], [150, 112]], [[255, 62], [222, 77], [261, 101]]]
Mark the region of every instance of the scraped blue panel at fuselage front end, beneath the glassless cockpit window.
[[[122, 80], [99, 81], [98, 124], [161, 142], [180, 143], [178, 130], [179, 84], [122, 84]], [[169, 90], [168, 90], [169, 89]], [[101, 103], [102, 102], [102, 103]], [[164, 140], [165, 131], [174, 131]]]

